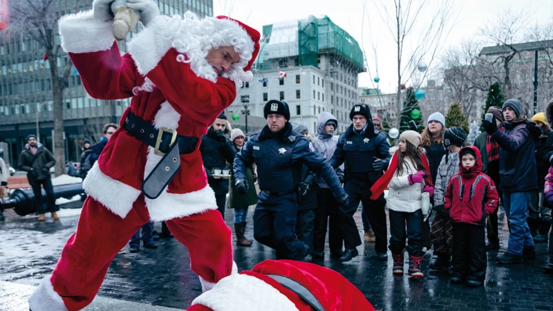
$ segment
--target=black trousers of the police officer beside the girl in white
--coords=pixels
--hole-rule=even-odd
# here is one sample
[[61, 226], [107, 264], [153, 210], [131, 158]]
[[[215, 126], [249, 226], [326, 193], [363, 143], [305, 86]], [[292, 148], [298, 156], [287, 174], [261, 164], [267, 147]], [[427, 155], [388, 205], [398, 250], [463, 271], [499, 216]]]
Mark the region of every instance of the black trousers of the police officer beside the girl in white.
[[353, 214], [359, 207], [359, 202], [363, 202], [366, 207], [369, 222], [375, 232], [375, 250], [377, 253], [386, 252], [386, 242], [388, 240], [386, 232], [386, 200], [384, 194], [376, 200], [371, 200], [371, 184], [359, 180], [346, 180], [344, 183], [344, 191], [348, 194], [348, 205], [340, 207], [338, 215], [340, 219], [340, 228], [344, 234], [344, 243], [347, 249], [354, 249], [361, 245], [359, 230], [357, 224], [353, 220]]

